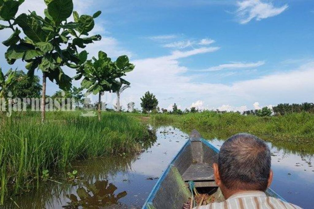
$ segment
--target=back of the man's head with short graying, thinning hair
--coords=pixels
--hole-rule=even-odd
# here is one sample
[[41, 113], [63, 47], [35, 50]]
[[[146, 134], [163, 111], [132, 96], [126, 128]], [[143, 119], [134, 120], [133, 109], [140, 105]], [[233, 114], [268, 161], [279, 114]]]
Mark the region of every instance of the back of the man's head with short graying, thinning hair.
[[270, 167], [269, 147], [254, 135], [236, 134], [220, 148], [219, 174], [222, 183], [230, 190], [265, 191]]

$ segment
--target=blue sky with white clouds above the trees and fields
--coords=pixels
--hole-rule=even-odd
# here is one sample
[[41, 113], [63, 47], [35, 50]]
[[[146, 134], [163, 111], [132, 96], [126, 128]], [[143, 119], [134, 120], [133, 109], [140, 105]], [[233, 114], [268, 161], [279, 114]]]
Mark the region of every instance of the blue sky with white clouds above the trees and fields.
[[[23, 10], [42, 0], [26, 0]], [[314, 2], [311, 0], [74, 0], [79, 13], [102, 10], [89, 46], [136, 64], [122, 94], [139, 107], [150, 90], [160, 108], [246, 110], [313, 102]], [[1, 39], [8, 34], [1, 31]], [[5, 51], [0, 47], [0, 53]], [[1, 57], [3, 68], [8, 67]], [[23, 63], [13, 67], [23, 69]], [[70, 75], [75, 72], [68, 70]], [[38, 72], [40, 75], [40, 72]], [[74, 82], [78, 86], [78, 82]], [[57, 86], [48, 84], [48, 94]], [[114, 102], [115, 96], [103, 99]], [[253, 105], [254, 104], [254, 105]]]

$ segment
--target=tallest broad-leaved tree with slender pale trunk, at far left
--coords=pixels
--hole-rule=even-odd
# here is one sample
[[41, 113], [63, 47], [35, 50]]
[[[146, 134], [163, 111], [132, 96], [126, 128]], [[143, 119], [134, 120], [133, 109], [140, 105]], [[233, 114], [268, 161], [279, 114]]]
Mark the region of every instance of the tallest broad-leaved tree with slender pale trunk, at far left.
[[[62, 67], [82, 70], [88, 53], [85, 50], [79, 52], [78, 48], [85, 48], [86, 44], [101, 39], [100, 35], [88, 34], [94, 28], [94, 19], [100, 15], [100, 11], [93, 16], [79, 16], [73, 12], [72, 0], [44, 1], [47, 6], [44, 18], [34, 11], [15, 18], [24, 0], [0, 0], [0, 19], [8, 23], [0, 25], [0, 29], [13, 31], [2, 42], [8, 47], [5, 53], [7, 62], [11, 65], [19, 59], [26, 62], [29, 76], [34, 75], [35, 69], [42, 71], [42, 122], [45, 120], [46, 78], [55, 81], [62, 90], [70, 89], [72, 78], [63, 72]], [[74, 22], [69, 22], [72, 14]], [[26, 35], [24, 38], [20, 37], [21, 30]]]

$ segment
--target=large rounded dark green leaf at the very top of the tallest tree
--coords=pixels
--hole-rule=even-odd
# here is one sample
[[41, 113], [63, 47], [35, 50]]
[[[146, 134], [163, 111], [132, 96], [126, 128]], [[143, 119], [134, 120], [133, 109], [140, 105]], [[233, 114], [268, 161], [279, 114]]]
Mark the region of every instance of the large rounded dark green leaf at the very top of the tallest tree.
[[68, 19], [72, 12], [72, 0], [51, 0], [48, 3], [48, 13], [56, 24]]

